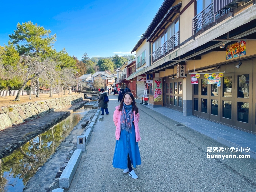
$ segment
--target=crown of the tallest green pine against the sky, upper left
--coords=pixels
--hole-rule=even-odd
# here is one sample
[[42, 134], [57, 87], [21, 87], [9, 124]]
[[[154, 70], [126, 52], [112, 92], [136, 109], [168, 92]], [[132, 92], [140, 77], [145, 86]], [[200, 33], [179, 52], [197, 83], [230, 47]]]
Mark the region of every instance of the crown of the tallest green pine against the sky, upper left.
[[17, 47], [19, 55], [41, 55], [48, 56], [52, 53], [56, 34], [51, 35], [50, 30], [34, 25], [31, 21], [18, 23], [17, 30], [9, 35], [11, 42]]

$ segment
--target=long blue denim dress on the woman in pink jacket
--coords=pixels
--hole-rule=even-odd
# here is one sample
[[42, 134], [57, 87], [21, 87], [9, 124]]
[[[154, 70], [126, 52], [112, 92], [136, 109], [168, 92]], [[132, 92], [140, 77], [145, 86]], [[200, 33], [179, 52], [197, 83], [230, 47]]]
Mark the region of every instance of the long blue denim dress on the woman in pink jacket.
[[[125, 109], [126, 114], [129, 110]], [[133, 120], [132, 120], [133, 121]], [[132, 133], [122, 130], [119, 140], [116, 140], [115, 153], [113, 157], [113, 167], [126, 169], [128, 164], [127, 156], [131, 159], [134, 168], [141, 164], [141, 156], [138, 142], [136, 142], [134, 123], [132, 123]]]

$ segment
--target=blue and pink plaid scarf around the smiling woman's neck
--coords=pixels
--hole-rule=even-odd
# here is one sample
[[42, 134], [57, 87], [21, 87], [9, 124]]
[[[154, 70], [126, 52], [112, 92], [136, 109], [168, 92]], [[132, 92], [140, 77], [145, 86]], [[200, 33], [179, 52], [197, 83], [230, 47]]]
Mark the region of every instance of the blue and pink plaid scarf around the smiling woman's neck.
[[[125, 112], [125, 109], [128, 112]], [[123, 110], [121, 111], [121, 131], [126, 130], [129, 133], [132, 133], [132, 120], [133, 120], [133, 112], [132, 112], [132, 105], [125, 105], [123, 104]]]

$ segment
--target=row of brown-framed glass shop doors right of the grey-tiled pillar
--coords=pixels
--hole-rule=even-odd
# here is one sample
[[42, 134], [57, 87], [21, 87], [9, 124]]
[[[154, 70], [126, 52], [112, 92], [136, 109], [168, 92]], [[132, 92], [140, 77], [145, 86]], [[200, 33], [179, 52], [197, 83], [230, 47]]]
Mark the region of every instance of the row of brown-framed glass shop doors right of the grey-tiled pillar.
[[209, 76], [224, 71], [220, 83], [200, 75], [198, 84], [193, 85], [192, 112], [200, 118], [256, 134], [256, 58], [243, 60], [240, 68], [237, 65], [238, 62], [231, 62], [205, 71]]

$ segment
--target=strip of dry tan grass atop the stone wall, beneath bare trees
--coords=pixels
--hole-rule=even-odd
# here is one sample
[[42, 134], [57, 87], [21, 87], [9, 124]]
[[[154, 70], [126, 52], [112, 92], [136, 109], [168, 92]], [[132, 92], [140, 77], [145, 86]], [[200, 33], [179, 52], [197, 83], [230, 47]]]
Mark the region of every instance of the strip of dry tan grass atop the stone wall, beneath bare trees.
[[[72, 93], [72, 95], [78, 95], [78, 94], [80, 93]], [[25, 95], [25, 96], [20, 96], [20, 101], [13, 101], [16, 96], [0, 97], [0, 107], [17, 105], [17, 104], [28, 103], [33, 101], [42, 101], [42, 100], [47, 100], [52, 98], [67, 97], [67, 96], [69, 96], [67, 93], [66, 95], [53, 94], [53, 97], [49, 97], [49, 94], [40, 94], [39, 97], [35, 97], [35, 95], [32, 95], [30, 100], [29, 95]]]

